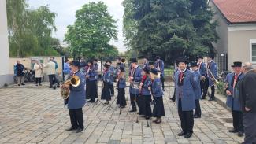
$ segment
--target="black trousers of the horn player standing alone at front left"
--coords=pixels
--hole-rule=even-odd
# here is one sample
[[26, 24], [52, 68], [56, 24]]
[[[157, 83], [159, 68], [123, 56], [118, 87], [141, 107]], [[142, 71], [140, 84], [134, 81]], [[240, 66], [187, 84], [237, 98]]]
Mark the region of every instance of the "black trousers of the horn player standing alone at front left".
[[70, 116], [70, 122], [71, 126], [73, 128], [84, 128], [83, 127], [83, 110], [80, 109], [69, 109], [69, 116]]

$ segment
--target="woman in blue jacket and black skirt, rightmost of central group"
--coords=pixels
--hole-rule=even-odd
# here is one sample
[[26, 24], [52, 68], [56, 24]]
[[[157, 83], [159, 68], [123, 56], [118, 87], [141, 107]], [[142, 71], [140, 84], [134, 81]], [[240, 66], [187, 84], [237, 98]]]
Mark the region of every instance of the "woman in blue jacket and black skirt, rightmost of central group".
[[156, 124], [161, 123], [161, 116], [165, 116], [165, 108], [163, 102], [163, 91], [161, 90], [161, 79], [157, 68], [150, 69], [150, 78], [152, 80], [151, 93], [154, 98], [153, 121]]

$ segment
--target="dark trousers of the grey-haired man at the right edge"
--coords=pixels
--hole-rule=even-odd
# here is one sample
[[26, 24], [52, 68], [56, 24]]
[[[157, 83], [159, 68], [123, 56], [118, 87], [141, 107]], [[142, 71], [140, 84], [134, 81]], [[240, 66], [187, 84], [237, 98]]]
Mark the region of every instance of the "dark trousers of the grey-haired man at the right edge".
[[244, 144], [256, 144], [256, 113], [243, 113]]

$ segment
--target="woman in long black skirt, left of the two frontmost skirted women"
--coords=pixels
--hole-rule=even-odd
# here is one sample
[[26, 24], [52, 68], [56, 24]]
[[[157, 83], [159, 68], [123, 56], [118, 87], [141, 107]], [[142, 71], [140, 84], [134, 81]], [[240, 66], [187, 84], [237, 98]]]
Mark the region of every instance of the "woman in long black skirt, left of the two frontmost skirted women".
[[139, 85], [139, 93], [140, 93], [140, 99], [141, 99], [141, 114], [145, 116], [146, 119], [150, 119], [152, 117], [152, 110], [150, 103], [151, 100], [151, 79], [150, 79], [150, 69], [149, 68], [143, 68], [143, 79], [141, 80], [141, 83]]

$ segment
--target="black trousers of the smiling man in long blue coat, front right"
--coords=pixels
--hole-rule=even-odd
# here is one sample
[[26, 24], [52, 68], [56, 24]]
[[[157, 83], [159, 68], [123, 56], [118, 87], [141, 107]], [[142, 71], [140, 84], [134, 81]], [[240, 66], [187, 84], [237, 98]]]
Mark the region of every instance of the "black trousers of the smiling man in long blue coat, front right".
[[194, 127], [193, 110], [182, 111], [181, 98], [179, 99], [178, 113], [180, 117], [180, 125], [181, 125], [182, 131], [184, 131], [185, 133], [187, 132], [193, 133], [193, 127]]

